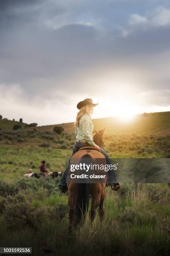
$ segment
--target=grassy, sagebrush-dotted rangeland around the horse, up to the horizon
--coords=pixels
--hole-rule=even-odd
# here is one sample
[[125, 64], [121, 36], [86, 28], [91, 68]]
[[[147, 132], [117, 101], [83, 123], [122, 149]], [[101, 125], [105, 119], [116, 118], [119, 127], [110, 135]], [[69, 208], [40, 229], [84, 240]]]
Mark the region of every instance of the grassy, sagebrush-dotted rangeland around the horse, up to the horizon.
[[[168, 184], [121, 184], [118, 192], [106, 188], [103, 223], [96, 211], [92, 225], [88, 215], [68, 237], [67, 193], [60, 195], [59, 177], [22, 177], [29, 168], [39, 173], [42, 160], [49, 172], [65, 170], [75, 142], [73, 123], [62, 124], [59, 135], [55, 125], [13, 131], [9, 122], [0, 131], [1, 246], [32, 246], [32, 255], [51, 256], [170, 254]], [[104, 149], [111, 158], [170, 158], [170, 112], [138, 115], [129, 123], [93, 122], [97, 130], [107, 128]]]

